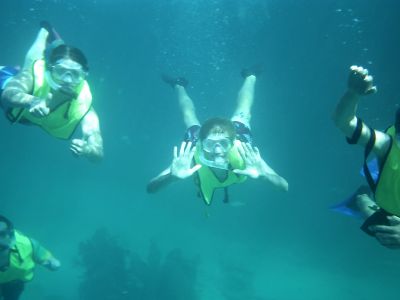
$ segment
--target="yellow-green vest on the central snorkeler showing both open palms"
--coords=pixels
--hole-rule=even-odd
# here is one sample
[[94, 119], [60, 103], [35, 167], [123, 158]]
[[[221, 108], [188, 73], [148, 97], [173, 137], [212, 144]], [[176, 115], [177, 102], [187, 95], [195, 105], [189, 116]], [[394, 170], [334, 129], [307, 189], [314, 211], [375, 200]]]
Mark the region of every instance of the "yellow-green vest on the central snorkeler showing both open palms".
[[202, 151], [201, 147], [198, 147], [194, 155], [194, 161], [196, 164], [202, 165], [202, 167], [197, 170], [197, 185], [204, 202], [207, 205], [210, 205], [216, 189], [227, 188], [232, 184], [241, 183], [247, 179], [247, 176], [238, 175], [232, 172], [234, 169], [243, 170], [245, 168], [245, 163], [237, 150], [236, 144], [234, 144], [228, 153], [229, 170], [227, 171], [227, 176], [221, 181], [217, 176], [215, 176], [210, 167], [201, 163], [200, 151]]

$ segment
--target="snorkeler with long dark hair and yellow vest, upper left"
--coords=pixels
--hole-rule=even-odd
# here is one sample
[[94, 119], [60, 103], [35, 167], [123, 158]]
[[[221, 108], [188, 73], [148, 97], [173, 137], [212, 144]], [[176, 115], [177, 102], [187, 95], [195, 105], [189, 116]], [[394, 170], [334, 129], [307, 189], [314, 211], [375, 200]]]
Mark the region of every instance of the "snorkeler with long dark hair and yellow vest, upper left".
[[49, 23], [41, 26], [23, 69], [0, 68], [1, 106], [11, 123], [36, 125], [64, 140], [70, 140], [80, 125], [82, 137], [71, 140], [70, 150], [99, 161], [103, 139], [86, 81], [86, 57], [64, 44]]

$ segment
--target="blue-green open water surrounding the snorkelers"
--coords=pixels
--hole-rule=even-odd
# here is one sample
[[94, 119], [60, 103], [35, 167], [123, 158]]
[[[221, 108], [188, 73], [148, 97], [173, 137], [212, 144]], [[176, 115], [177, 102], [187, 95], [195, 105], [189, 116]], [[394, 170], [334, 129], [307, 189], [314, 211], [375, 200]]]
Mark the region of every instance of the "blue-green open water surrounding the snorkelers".
[[[368, 67], [379, 89], [360, 115], [380, 129], [394, 118], [399, 11], [395, 0], [2, 1], [1, 64], [23, 62], [43, 19], [86, 53], [105, 145], [92, 165], [67, 142], [0, 120], [0, 211], [63, 263], [38, 269], [22, 299], [77, 299], [78, 245], [100, 227], [142, 257], [152, 242], [198, 257], [199, 299], [396, 299], [399, 252], [327, 208], [362, 182], [362, 150], [330, 119], [350, 65]], [[204, 120], [231, 115], [240, 69], [255, 62], [265, 66], [255, 144], [289, 192], [249, 180], [231, 189], [245, 205], [209, 209], [190, 180], [146, 194], [185, 129], [160, 73], [190, 80]], [[236, 287], [229, 270], [243, 274]]]

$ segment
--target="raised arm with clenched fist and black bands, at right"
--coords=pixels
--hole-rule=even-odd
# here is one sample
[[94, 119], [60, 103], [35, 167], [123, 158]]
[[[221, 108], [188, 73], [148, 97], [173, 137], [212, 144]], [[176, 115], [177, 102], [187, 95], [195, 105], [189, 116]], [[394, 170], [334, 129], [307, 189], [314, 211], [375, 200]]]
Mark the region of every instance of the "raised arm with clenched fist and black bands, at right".
[[383, 157], [388, 149], [390, 138], [387, 134], [370, 129], [360, 118], [356, 116], [358, 102], [361, 96], [375, 93], [373, 78], [368, 70], [363, 67], [351, 66], [348, 79], [348, 87], [333, 113], [333, 121], [336, 126], [354, 143], [365, 147], [375, 132], [376, 141], [372, 148], [378, 157]]

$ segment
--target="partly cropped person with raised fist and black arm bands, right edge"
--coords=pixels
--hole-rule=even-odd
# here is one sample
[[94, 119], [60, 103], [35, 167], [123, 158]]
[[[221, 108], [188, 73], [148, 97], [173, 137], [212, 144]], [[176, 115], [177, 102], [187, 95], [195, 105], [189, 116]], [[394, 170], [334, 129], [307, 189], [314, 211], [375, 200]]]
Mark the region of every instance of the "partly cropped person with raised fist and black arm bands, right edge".
[[[366, 218], [362, 230], [385, 247], [400, 248], [400, 111], [385, 132], [368, 127], [356, 116], [361, 96], [376, 91], [368, 70], [351, 66], [347, 91], [336, 106], [333, 120], [350, 144], [364, 148], [363, 173], [371, 191], [360, 189], [346, 202], [356, 200], [361, 217]], [[376, 159], [375, 167], [371, 157]], [[351, 208], [348, 204], [344, 206]]]

